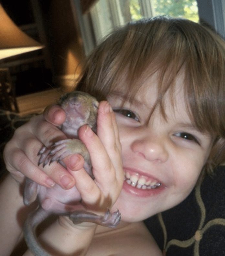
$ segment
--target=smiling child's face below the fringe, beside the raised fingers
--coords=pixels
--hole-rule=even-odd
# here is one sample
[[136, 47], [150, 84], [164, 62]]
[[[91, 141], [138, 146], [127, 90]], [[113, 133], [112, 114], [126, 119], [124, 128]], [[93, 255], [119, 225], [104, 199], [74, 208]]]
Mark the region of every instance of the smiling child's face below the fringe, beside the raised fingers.
[[195, 186], [212, 144], [211, 136], [194, 127], [188, 116], [181, 78], [177, 80], [174, 107], [166, 96], [167, 120], [158, 108], [149, 120], [157, 96], [154, 77], [146, 81], [145, 88], [133, 104], [125, 102], [122, 109], [122, 89], [108, 98], [117, 110], [127, 176], [114, 208], [128, 222], [143, 220], [183, 201]]

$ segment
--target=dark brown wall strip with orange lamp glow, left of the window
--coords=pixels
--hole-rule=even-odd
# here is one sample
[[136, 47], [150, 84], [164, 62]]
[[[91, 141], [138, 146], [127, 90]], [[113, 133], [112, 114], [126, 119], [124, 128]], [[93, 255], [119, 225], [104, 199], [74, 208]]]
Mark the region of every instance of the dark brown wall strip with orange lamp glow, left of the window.
[[63, 87], [72, 86], [74, 79], [80, 74], [83, 57], [76, 17], [70, 0], [43, 2], [41, 5], [55, 82]]

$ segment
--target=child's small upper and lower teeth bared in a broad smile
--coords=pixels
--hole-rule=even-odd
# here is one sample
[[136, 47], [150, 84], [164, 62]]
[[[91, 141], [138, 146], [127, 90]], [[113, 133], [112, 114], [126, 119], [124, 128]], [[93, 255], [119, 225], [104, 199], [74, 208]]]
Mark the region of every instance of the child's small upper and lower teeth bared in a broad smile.
[[145, 177], [140, 177], [138, 174], [131, 175], [129, 172], [125, 172], [124, 180], [137, 189], [157, 189], [162, 185], [157, 180], [147, 180]]

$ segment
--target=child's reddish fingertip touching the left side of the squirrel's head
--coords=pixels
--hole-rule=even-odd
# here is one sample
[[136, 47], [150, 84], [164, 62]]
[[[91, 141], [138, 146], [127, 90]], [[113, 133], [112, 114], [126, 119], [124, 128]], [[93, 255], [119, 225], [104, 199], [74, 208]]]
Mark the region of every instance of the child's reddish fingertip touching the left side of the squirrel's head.
[[44, 118], [49, 123], [59, 126], [66, 118], [65, 111], [59, 105], [50, 105], [44, 110]]

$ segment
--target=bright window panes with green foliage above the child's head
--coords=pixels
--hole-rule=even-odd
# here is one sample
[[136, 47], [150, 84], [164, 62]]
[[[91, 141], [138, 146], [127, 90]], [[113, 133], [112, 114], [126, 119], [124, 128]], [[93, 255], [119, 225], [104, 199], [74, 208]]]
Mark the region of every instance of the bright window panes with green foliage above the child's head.
[[97, 44], [129, 21], [168, 14], [198, 22], [196, 0], [99, 0], [90, 11]]

